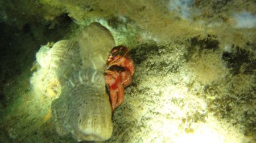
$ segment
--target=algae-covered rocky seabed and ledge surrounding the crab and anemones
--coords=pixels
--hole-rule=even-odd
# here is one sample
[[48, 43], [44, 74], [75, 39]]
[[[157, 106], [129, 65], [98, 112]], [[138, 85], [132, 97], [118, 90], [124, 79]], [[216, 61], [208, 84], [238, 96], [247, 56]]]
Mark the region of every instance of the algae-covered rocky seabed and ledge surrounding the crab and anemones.
[[31, 77], [42, 45], [74, 40], [94, 21], [129, 48], [136, 69], [105, 142], [256, 142], [255, 9], [239, 0], [0, 0], [0, 142], [77, 142], [55, 131], [57, 85]]

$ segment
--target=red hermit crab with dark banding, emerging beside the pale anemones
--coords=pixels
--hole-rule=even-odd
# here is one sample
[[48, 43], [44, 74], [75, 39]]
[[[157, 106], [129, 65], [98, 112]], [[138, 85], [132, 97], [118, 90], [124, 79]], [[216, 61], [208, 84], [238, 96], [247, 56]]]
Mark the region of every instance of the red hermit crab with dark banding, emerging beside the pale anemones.
[[129, 56], [127, 47], [113, 47], [108, 56], [104, 73], [112, 112], [123, 102], [124, 89], [131, 84], [134, 71], [134, 63]]

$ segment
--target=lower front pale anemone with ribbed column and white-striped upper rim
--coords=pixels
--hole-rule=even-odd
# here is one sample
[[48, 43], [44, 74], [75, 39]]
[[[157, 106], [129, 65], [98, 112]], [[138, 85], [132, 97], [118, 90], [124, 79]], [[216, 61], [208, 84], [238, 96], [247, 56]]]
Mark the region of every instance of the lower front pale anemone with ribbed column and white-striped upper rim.
[[71, 132], [77, 141], [102, 141], [112, 135], [112, 114], [102, 74], [81, 69], [63, 85], [62, 95], [52, 102], [59, 135]]

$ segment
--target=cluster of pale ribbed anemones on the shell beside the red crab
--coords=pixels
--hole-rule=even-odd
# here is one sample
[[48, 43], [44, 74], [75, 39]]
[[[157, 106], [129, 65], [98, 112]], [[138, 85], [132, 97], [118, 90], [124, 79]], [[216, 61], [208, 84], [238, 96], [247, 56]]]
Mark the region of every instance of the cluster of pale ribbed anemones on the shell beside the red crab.
[[77, 141], [108, 140], [113, 123], [103, 71], [114, 40], [98, 23], [84, 28], [77, 39], [52, 47], [55, 59], [50, 68], [61, 83], [61, 95], [51, 104], [56, 131], [72, 133]]

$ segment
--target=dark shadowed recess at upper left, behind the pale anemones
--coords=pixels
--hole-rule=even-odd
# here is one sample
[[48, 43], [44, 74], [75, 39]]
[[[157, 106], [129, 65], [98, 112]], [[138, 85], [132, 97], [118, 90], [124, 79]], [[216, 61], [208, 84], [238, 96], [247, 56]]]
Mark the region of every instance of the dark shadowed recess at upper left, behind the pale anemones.
[[[28, 21], [22, 28], [0, 23], [0, 99], [3, 106], [10, 99], [6, 91], [19, 82], [15, 81], [16, 77], [25, 72], [24, 76], [32, 75], [30, 68], [40, 46], [65, 38], [72, 28], [76, 28], [76, 25], [67, 14], [51, 21]], [[29, 79], [26, 82], [29, 83]]]

